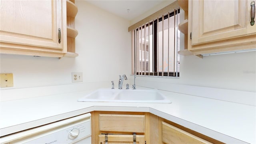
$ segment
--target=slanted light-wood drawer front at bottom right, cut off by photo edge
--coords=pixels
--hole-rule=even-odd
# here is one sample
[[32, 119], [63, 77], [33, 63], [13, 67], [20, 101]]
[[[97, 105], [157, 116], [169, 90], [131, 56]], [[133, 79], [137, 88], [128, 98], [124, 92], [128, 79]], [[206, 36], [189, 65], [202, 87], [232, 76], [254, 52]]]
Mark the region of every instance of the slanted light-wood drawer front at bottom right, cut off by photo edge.
[[166, 144], [212, 144], [166, 122], [162, 122], [162, 141]]

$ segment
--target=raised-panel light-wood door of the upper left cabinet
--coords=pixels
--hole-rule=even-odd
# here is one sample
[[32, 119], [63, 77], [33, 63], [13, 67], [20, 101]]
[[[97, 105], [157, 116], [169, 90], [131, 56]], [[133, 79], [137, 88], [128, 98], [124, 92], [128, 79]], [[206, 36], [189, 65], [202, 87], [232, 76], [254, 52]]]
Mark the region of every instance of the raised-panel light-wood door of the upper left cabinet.
[[[62, 15], [65, 14], [62, 12], [62, 5], [66, 6], [66, 2], [61, 0], [1, 0], [0, 5], [1, 47], [29, 50], [40, 47], [48, 48], [46, 51], [51, 52], [58, 52], [54, 49], [60, 51], [64, 48], [66, 23], [62, 24]], [[64, 9], [66, 10], [65, 7]]]

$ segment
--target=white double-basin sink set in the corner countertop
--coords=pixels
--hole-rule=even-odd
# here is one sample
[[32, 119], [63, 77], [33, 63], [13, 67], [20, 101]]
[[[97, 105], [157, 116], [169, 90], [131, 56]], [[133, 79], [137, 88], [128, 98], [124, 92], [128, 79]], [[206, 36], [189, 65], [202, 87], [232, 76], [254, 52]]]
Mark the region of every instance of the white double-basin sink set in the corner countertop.
[[149, 102], [171, 103], [156, 90], [98, 89], [78, 99], [79, 102]]

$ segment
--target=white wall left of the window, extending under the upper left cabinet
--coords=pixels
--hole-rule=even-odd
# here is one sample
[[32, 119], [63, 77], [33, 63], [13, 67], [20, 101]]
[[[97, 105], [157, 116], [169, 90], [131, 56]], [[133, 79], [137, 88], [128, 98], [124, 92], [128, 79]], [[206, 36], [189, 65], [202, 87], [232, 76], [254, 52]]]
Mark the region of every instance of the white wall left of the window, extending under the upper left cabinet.
[[[13, 88], [72, 84], [71, 72], [83, 72], [83, 83], [118, 80], [131, 71], [129, 21], [77, 0], [76, 58], [0, 55], [0, 72], [13, 73]], [[117, 85], [117, 82], [115, 82]], [[73, 83], [75, 84], [75, 83]], [[10, 88], [1, 88], [1, 90]]]

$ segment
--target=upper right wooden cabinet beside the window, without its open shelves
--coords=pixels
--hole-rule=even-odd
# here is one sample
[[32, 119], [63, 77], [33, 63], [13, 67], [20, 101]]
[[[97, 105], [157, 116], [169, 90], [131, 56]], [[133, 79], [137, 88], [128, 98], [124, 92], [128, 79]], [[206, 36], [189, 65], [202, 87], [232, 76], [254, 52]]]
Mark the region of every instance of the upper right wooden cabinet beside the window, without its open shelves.
[[209, 54], [256, 48], [249, 0], [188, 1], [188, 50]]

